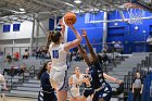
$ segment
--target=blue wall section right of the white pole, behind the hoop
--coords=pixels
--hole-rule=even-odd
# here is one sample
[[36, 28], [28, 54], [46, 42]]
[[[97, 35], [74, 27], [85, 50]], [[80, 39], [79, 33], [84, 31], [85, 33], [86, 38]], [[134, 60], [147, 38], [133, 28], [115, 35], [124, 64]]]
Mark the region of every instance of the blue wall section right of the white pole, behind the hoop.
[[[126, 11], [123, 12], [125, 17], [128, 18]], [[145, 16], [151, 16], [152, 13], [145, 12]], [[109, 14], [109, 20], [121, 20], [119, 13], [114, 11]], [[149, 51], [148, 43], [145, 40], [150, 34], [150, 26], [152, 25], [152, 20], [144, 20], [141, 25], [128, 24], [125, 22], [117, 22], [117, 26], [114, 23], [109, 23], [109, 37], [107, 41], [122, 41], [125, 48], [125, 53]], [[139, 29], [136, 30], [135, 27], [138, 26]], [[143, 33], [145, 30], [145, 33]], [[112, 33], [113, 31], [113, 33]]]

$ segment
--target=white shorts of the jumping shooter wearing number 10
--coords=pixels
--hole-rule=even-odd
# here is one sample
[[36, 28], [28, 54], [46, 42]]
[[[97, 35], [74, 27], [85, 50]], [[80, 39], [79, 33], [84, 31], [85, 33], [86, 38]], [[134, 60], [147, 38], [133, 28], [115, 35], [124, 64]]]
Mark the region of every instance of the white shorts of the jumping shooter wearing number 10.
[[56, 88], [58, 91], [68, 89], [68, 79], [67, 71], [56, 71], [51, 68], [50, 72], [50, 81], [53, 88]]

